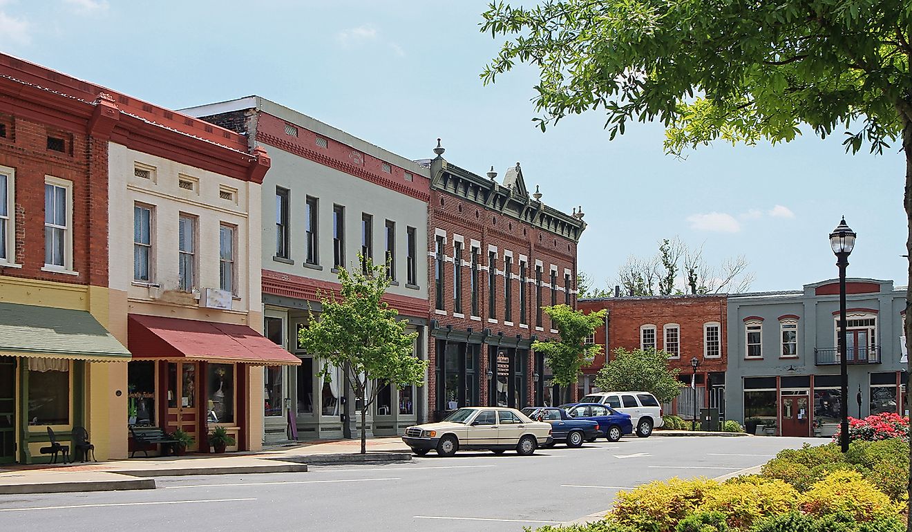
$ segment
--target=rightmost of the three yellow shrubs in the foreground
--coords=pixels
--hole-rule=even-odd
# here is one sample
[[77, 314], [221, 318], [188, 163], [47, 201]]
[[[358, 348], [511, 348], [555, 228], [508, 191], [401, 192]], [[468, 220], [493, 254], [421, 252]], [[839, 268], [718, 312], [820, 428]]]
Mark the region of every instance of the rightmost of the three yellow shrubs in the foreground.
[[801, 495], [799, 506], [814, 516], [852, 516], [857, 521], [898, 516], [890, 498], [855, 471], [837, 471]]

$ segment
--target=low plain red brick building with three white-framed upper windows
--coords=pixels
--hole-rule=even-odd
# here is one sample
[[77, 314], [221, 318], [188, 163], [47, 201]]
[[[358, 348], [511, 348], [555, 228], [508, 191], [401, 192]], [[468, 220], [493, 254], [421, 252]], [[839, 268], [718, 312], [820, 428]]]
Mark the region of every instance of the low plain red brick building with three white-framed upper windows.
[[[668, 366], [680, 370], [679, 379], [690, 386], [696, 358], [697, 408], [709, 404], [725, 408], [726, 356], [725, 295], [605, 297], [580, 299], [578, 307], [591, 312], [607, 309], [606, 325], [596, 329], [594, 342], [606, 346], [605, 352], [583, 368], [580, 393], [597, 391], [596, 373], [605, 366], [612, 350], [664, 349], [672, 356]], [[607, 331], [607, 335], [606, 335]], [[665, 405], [666, 413], [693, 418], [693, 392], [682, 390], [678, 399]]]

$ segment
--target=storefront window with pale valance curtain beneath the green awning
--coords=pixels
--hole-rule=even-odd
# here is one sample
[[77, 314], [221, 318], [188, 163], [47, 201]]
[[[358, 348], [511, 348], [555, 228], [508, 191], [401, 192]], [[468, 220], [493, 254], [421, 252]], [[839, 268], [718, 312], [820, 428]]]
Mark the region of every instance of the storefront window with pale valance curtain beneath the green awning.
[[28, 360], [28, 424], [69, 423], [69, 360]]

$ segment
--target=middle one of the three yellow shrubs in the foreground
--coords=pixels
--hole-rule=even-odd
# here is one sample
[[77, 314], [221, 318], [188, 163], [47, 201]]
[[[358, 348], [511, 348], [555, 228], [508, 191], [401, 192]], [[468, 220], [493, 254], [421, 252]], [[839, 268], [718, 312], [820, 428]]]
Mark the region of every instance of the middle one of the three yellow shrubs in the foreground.
[[792, 511], [798, 495], [791, 485], [778, 478], [741, 476], [707, 493], [700, 510], [719, 512], [730, 527], [743, 529], [763, 517]]

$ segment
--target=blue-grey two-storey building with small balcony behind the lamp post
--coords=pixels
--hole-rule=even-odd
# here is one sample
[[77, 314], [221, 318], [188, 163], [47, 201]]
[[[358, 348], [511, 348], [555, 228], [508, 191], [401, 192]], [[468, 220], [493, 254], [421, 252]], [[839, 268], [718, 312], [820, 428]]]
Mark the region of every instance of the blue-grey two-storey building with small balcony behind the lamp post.
[[[846, 292], [849, 415], [905, 413], [906, 288], [850, 278]], [[838, 329], [838, 280], [730, 295], [728, 417], [779, 435], [832, 435], [843, 401]]]

